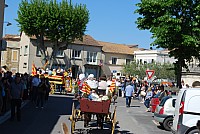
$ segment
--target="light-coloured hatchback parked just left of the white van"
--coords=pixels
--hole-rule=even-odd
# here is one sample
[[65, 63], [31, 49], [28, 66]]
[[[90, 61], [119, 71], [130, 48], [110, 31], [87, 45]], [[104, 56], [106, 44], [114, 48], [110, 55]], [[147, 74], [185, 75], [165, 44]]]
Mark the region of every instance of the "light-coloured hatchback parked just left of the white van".
[[173, 123], [176, 97], [165, 96], [154, 112], [155, 121], [159, 122], [166, 130], [170, 131]]

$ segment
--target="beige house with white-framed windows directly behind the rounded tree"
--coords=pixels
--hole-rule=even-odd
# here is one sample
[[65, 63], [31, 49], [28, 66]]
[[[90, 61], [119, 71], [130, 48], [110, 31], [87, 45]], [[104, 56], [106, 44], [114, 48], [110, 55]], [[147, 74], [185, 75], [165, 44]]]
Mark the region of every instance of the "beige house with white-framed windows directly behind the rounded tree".
[[[44, 67], [46, 60], [37, 46], [35, 37], [29, 37], [24, 32], [21, 34], [20, 41], [20, 73], [31, 73], [32, 64], [36, 67]], [[52, 45], [48, 39], [45, 39], [47, 55], [52, 54]], [[62, 49], [55, 54], [51, 69], [72, 69], [73, 78], [78, 74], [85, 73], [86, 76], [93, 73], [99, 77], [100, 63], [102, 62], [102, 46], [89, 35], [83, 36], [83, 41], [75, 40], [71, 44], [61, 44]], [[47, 68], [50, 67], [48, 64]]]

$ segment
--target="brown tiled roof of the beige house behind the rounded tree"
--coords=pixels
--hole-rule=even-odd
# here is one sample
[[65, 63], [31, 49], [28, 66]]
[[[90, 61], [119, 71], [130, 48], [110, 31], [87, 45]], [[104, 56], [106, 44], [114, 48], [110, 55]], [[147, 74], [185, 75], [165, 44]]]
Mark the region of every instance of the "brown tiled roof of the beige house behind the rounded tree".
[[[36, 39], [35, 36], [30, 37], [31, 39]], [[47, 38], [44, 38], [44, 40], [48, 40]], [[94, 38], [92, 38], [90, 35], [83, 35], [83, 41], [75, 40], [73, 44], [79, 44], [79, 45], [88, 45], [88, 46], [99, 46], [102, 47]]]

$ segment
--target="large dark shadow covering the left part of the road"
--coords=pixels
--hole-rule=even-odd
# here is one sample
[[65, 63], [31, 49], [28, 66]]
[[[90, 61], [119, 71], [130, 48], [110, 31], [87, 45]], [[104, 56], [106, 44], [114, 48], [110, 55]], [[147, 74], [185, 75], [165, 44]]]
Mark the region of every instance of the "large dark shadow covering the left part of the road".
[[0, 133], [50, 134], [62, 115], [71, 115], [71, 107], [72, 97], [64, 95], [50, 96], [48, 102], [44, 105], [44, 109], [35, 108], [35, 105], [29, 102], [21, 110], [21, 121], [14, 120], [11, 122], [7, 120], [0, 125]]

